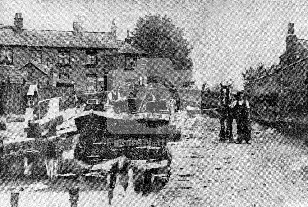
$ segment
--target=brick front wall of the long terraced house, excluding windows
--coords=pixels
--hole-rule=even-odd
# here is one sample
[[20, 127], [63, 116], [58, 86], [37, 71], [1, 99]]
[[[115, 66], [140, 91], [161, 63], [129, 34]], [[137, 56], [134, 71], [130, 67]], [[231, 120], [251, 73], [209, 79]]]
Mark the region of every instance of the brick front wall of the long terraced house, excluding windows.
[[[7, 47], [7, 46], [6, 46]], [[10, 46], [13, 50], [13, 64], [17, 68], [29, 63], [30, 50], [42, 49], [42, 64], [47, 65], [48, 59], [54, 60], [54, 68], [57, 73], [69, 74], [70, 80], [75, 82], [76, 91], [86, 91], [87, 87], [87, 74], [96, 75], [97, 77], [97, 91], [100, 91], [104, 87], [104, 76], [111, 70], [124, 70], [125, 68], [125, 54], [118, 54], [116, 49], [78, 49], [78, 48], [54, 48], [54, 47], [22, 47], [22, 46]], [[57, 63], [59, 61], [59, 51], [70, 51], [70, 66], [59, 67]], [[85, 66], [86, 51], [97, 51], [97, 67], [90, 68]], [[113, 55], [113, 66], [104, 68], [104, 55]], [[131, 54], [130, 54], [131, 55]], [[136, 55], [137, 59], [145, 57], [145, 55]], [[35, 79], [40, 74], [38, 72], [31, 72], [30, 78]], [[123, 87], [125, 85], [125, 79], [135, 78], [136, 82], [139, 81], [139, 74], [136, 71], [125, 71], [123, 75], [127, 77], [119, 77], [116, 83], [112, 85]]]

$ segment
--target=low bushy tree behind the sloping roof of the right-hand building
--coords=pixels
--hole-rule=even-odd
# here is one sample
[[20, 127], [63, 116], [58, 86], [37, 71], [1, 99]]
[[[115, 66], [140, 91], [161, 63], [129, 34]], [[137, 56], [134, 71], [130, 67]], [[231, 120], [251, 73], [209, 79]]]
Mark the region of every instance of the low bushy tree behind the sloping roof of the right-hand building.
[[261, 78], [262, 76], [268, 75], [271, 72], [276, 71], [278, 68], [278, 64], [271, 65], [270, 67], [265, 67], [264, 63], [259, 63], [259, 66], [256, 69], [249, 66], [249, 68], [245, 69], [245, 73], [242, 73], [242, 79], [246, 81], [246, 83], [254, 82], [255, 79]]

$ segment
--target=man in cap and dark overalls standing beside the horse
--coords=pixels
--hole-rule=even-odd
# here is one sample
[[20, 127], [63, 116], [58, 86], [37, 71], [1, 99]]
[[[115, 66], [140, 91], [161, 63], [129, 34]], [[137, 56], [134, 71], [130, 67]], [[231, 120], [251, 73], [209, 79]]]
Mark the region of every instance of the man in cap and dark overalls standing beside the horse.
[[244, 93], [239, 91], [237, 93], [237, 100], [231, 104], [233, 116], [236, 119], [237, 125], [237, 140], [238, 144], [242, 143], [242, 139], [246, 143], [250, 140], [250, 106], [248, 100], [244, 99]]

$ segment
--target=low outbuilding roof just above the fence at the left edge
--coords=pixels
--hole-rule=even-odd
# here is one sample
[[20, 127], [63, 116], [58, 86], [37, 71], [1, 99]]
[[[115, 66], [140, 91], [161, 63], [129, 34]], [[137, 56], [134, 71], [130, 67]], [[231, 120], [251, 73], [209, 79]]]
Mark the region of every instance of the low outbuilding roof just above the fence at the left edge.
[[[7, 83], [7, 77], [10, 77], [10, 83], [23, 83], [26, 77], [14, 66], [0, 65], [0, 82]], [[30, 82], [26, 80], [26, 84]]]

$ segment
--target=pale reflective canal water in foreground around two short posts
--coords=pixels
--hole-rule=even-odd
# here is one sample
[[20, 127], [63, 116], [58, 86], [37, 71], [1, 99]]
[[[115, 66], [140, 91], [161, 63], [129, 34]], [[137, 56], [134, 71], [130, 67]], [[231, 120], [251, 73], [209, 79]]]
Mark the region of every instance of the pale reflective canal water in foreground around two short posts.
[[62, 155], [63, 163], [69, 165], [66, 168], [67, 177], [2, 177], [1, 206], [11, 206], [12, 190], [19, 191], [18, 207], [71, 206], [69, 189], [74, 186], [79, 187], [78, 206], [151, 206], [157, 193], [168, 183], [169, 174], [157, 174], [157, 170], [143, 168], [142, 164], [138, 165], [131, 160], [125, 160], [128, 163], [125, 168], [98, 173], [96, 177], [74, 176], [74, 168], [78, 168], [79, 160], [74, 159], [72, 155], [78, 137], [75, 135], [71, 148]]

